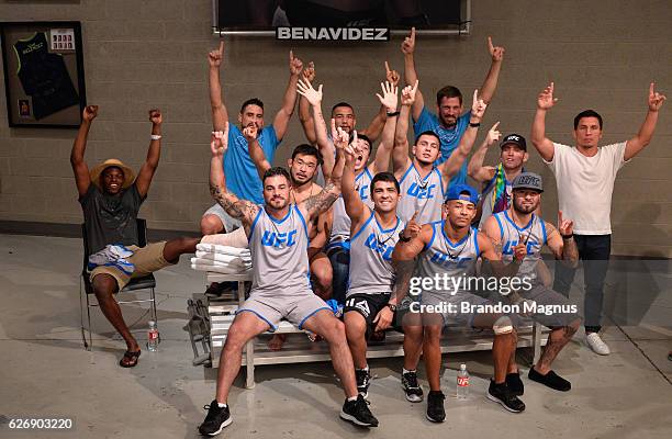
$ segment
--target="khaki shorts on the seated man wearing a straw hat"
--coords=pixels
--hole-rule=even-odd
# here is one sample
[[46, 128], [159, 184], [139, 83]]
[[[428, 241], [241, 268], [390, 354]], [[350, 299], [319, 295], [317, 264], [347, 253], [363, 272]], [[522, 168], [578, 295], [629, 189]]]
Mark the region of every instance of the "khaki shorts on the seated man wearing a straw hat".
[[166, 241], [148, 244], [145, 247], [127, 246], [126, 248], [133, 251], [133, 256], [126, 258], [126, 260], [135, 266], [133, 274], [128, 275], [116, 267], [100, 266], [96, 267], [89, 273], [89, 280], [93, 282], [93, 278], [98, 274], [110, 274], [116, 280], [119, 291], [122, 291], [124, 286], [128, 284], [133, 278], [142, 278], [155, 271], [158, 271], [173, 263], [168, 262], [164, 258], [164, 247]]

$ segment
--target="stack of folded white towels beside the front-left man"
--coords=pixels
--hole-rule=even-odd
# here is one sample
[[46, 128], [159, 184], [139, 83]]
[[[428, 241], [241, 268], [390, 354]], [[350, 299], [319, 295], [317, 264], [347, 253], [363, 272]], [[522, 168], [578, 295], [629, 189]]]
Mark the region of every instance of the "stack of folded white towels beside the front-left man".
[[247, 248], [198, 244], [191, 268], [224, 274], [246, 273], [251, 270], [251, 255]]

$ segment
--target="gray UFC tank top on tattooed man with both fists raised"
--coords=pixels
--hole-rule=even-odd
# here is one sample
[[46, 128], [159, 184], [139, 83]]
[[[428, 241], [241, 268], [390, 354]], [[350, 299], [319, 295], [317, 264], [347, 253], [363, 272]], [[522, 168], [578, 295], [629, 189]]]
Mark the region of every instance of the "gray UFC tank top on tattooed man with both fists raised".
[[282, 219], [260, 209], [249, 235], [251, 294], [298, 295], [310, 291], [307, 245], [305, 219], [295, 204]]

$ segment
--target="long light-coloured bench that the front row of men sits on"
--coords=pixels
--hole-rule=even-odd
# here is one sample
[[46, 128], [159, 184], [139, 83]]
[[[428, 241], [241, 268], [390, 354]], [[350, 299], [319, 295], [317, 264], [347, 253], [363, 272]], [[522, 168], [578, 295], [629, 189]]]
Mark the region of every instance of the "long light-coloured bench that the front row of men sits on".
[[[220, 301], [209, 302], [210, 314], [210, 344], [212, 365], [220, 364], [220, 352], [226, 340], [228, 328], [235, 317], [238, 306], [245, 301], [245, 282], [251, 280], [250, 274], [220, 274], [208, 273], [208, 282], [238, 282], [237, 294], [229, 294]], [[243, 365], [246, 368], [245, 386], [255, 386], [255, 367], [264, 364], [302, 363], [314, 361], [331, 361], [328, 345], [326, 342], [312, 342], [303, 330], [289, 322], [282, 320], [275, 334], [288, 334], [288, 339], [279, 351], [270, 350], [267, 341], [271, 333], [250, 340], [245, 347]], [[387, 333], [385, 341], [381, 345], [371, 345], [367, 349], [367, 358], [403, 357], [403, 334], [394, 330]], [[533, 348], [533, 363], [536, 363], [546, 342], [547, 333], [542, 326], [534, 323], [518, 329], [518, 347]], [[492, 350], [492, 330], [448, 330], [441, 337], [441, 352], [468, 352], [478, 350]]]

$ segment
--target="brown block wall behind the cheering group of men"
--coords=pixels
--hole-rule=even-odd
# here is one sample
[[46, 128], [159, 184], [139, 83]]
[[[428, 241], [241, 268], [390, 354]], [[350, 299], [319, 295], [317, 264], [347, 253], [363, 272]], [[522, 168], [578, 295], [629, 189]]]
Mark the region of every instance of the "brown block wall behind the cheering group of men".
[[[548, 136], [569, 144], [572, 119], [585, 108], [603, 114], [603, 140], [611, 143], [639, 128], [651, 80], [672, 99], [672, 9], [664, 0], [472, 3], [472, 35], [418, 36], [416, 63], [427, 101], [446, 83], [471, 95], [490, 64], [486, 36], [506, 47], [500, 87], [478, 142], [495, 121], [502, 122], [504, 132], [528, 136], [536, 95], [550, 80], [556, 81], [560, 102], [547, 117]], [[198, 229], [211, 204], [205, 54], [217, 41], [211, 35], [210, 11], [206, 0], [0, 3], [0, 16], [8, 21], [82, 22], [88, 101], [101, 106], [89, 137], [90, 166], [119, 157], [137, 169], [149, 142], [146, 112], [154, 106], [164, 111], [161, 162], [142, 211], [154, 228]], [[400, 37], [366, 45], [229, 38], [222, 71], [225, 102], [235, 114], [243, 100], [259, 97], [271, 123], [287, 85], [288, 52], [293, 48], [304, 61], [315, 61], [317, 82], [324, 83], [325, 111], [336, 101], [348, 101], [356, 108], [359, 126], [366, 126], [378, 109], [374, 93], [383, 61], [403, 68], [400, 43]], [[79, 223], [68, 161], [75, 131], [10, 130], [4, 105], [0, 99], [0, 221]], [[652, 144], [617, 179], [614, 254], [672, 257], [671, 105], [663, 108]], [[301, 142], [294, 117], [276, 162], [283, 164]], [[549, 188], [545, 216], [555, 221], [552, 176], [530, 153], [529, 168], [540, 171]], [[495, 161], [495, 154], [486, 160]]]

